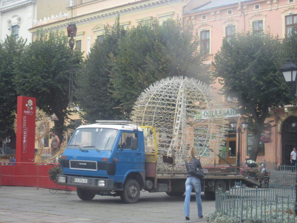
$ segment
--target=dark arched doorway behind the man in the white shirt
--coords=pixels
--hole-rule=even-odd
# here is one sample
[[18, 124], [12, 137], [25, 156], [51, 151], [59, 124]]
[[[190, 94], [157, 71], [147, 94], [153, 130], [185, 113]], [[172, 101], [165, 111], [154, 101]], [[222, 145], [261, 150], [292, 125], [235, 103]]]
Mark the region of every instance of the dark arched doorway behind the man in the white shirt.
[[290, 153], [297, 147], [297, 118], [288, 117], [282, 125], [282, 164], [291, 165]]

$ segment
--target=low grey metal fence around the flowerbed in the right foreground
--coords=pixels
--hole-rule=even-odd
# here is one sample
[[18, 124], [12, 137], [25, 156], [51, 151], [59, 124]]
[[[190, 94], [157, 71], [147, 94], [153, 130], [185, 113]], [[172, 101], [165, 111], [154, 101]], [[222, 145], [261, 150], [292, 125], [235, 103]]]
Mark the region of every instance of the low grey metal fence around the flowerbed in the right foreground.
[[268, 189], [247, 189], [236, 183], [229, 189], [216, 191], [215, 209], [233, 222], [297, 222], [293, 185], [271, 183]]

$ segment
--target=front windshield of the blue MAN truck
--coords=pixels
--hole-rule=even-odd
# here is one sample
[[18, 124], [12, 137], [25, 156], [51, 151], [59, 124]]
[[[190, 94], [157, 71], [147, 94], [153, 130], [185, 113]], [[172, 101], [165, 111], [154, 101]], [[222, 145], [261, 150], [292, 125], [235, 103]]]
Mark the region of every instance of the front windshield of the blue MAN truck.
[[67, 148], [111, 150], [117, 134], [118, 130], [110, 128], [80, 128], [74, 132]]

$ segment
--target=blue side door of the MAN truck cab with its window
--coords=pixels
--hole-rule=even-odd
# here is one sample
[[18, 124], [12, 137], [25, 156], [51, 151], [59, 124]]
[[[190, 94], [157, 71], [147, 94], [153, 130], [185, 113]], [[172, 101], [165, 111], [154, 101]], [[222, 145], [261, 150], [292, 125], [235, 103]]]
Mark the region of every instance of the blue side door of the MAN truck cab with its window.
[[140, 153], [139, 142], [136, 150], [132, 150], [132, 138], [138, 138], [135, 132], [122, 132], [116, 148], [116, 181], [123, 181], [125, 174], [131, 170], [139, 170], [142, 154]]

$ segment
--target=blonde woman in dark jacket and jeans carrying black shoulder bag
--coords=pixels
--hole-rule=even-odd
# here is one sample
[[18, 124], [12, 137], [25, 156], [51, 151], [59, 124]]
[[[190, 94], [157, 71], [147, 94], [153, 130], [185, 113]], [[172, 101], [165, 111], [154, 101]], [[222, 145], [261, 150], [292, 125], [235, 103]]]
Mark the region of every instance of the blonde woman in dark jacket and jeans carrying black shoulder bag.
[[[190, 197], [191, 197], [191, 192], [194, 187], [195, 189], [195, 194], [196, 194], [196, 202], [197, 202], [197, 209], [198, 209], [198, 217], [203, 218], [202, 215], [202, 203], [201, 203], [201, 179], [198, 178], [198, 175], [195, 174], [195, 169], [202, 169], [200, 159], [196, 159], [195, 156], [197, 156], [197, 150], [195, 148], [191, 148], [189, 150], [189, 155], [190, 158], [188, 158], [185, 163], [187, 167], [187, 180], [186, 180], [186, 197], [185, 197], [185, 202], [184, 202], [184, 215], [186, 217], [186, 220], [190, 220], [189, 215], [190, 215]], [[193, 171], [194, 170], [194, 171]], [[203, 171], [202, 172], [202, 177], [203, 177]], [[200, 175], [199, 175], [200, 176]]]

